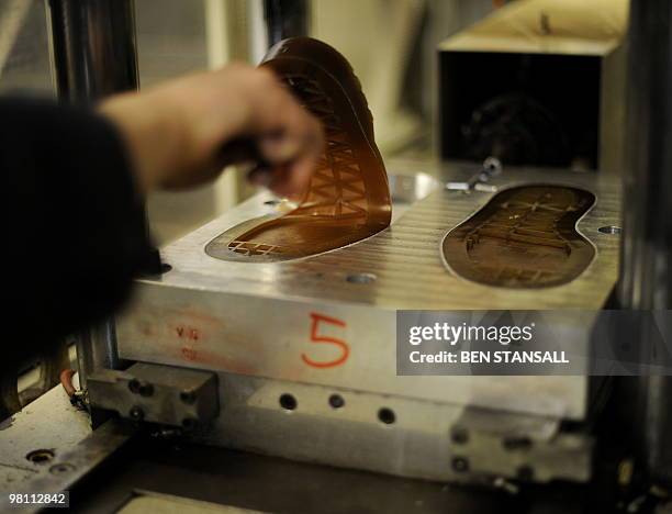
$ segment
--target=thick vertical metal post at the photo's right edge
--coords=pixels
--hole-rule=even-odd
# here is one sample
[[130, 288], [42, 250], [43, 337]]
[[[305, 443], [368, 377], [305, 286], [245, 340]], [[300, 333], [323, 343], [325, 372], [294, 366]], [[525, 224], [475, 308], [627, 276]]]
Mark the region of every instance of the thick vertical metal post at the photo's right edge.
[[[627, 166], [618, 290], [623, 308], [672, 308], [672, 2], [630, 2]], [[646, 316], [642, 316], [646, 319]], [[649, 324], [650, 325], [650, 324]], [[642, 348], [651, 326], [639, 326]], [[672, 482], [672, 377], [628, 382], [641, 457]], [[637, 414], [632, 414], [637, 412]]]

